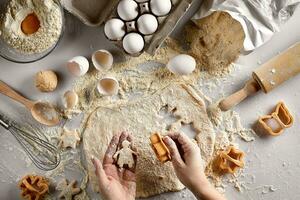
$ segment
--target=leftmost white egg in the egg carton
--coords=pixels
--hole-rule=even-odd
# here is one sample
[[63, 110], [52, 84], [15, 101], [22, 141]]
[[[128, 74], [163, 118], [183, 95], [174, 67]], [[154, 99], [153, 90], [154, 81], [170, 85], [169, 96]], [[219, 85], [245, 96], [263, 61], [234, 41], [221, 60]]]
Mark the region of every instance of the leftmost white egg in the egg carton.
[[104, 25], [104, 33], [110, 40], [121, 40], [125, 35], [125, 24], [120, 19], [110, 19]]

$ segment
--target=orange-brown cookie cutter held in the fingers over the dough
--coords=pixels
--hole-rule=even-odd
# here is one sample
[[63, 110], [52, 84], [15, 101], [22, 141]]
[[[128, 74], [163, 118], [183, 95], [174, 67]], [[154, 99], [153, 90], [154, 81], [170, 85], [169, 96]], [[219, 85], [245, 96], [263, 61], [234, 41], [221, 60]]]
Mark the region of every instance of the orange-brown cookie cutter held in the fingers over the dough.
[[168, 147], [165, 145], [159, 133], [154, 133], [150, 136], [151, 147], [155, 152], [156, 157], [162, 163], [171, 160], [171, 154]]

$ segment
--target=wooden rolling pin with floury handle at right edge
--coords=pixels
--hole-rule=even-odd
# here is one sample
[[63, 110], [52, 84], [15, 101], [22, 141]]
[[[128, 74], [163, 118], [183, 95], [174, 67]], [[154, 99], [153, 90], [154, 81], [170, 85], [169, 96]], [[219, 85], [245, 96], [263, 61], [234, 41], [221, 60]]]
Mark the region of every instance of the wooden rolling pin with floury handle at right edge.
[[241, 90], [220, 101], [219, 108], [227, 111], [260, 89], [268, 93], [299, 73], [300, 42], [257, 68]]

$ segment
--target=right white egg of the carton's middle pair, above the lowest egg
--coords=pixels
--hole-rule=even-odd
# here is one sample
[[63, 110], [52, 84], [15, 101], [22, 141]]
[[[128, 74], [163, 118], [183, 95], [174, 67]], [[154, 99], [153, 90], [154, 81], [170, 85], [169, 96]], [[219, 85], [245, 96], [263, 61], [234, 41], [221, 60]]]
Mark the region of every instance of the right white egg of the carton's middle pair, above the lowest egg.
[[150, 35], [157, 30], [158, 22], [154, 15], [144, 14], [138, 18], [137, 27], [142, 34]]

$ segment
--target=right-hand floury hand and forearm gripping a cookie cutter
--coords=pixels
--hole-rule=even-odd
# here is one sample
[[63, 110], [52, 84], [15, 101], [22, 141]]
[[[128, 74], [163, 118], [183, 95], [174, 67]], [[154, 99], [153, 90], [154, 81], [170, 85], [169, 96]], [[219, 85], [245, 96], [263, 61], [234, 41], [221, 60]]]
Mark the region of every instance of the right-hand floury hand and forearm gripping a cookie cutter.
[[225, 200], [206, 178], [197, 144], [180, 133], [169, 133], [163, 140], [170, 150], [174, 170], [182, 184], [198, 199]]

